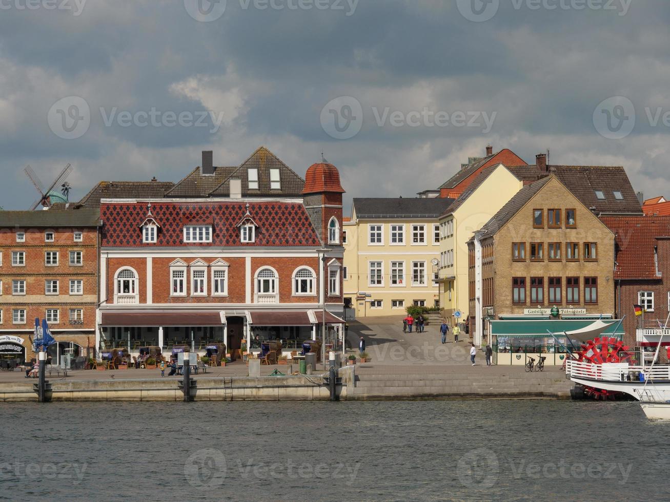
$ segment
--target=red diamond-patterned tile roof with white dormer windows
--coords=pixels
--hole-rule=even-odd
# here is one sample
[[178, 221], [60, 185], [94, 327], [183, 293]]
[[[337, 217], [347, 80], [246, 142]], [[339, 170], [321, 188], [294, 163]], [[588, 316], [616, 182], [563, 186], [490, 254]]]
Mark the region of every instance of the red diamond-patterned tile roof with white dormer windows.
[[[146, 202], [103, 203], [102, 246], [115, 247], [208, 247], [208, 246], [320, 246], [310, 216], [302, 203], [258, 201], [249, 203], [249, 214], [258, 224], [256, 242], [241, 242], [237, 223], [247, 213], [244, 202], [151, 202], [151, 214], [159, 224], [157, 242], [143, 244], [139, 226], [147, 218]], [[212, 224], [211, 243], [184, 243], [184, 224]]]

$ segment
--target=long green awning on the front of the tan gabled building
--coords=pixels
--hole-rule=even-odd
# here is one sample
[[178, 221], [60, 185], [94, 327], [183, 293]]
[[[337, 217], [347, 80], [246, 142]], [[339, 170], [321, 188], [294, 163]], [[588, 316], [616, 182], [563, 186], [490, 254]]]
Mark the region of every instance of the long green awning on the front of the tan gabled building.
[[[624, 329], [619, 321], [603, 320], [610, 326], [602, 333], [610, 337], [622, 337]], [[593, 321], [579, 319], [561, 319], [555, 321], [491, 321], [491, 335], [510, 338], [551, 338], [565, 337], [565, 331], [574, 331], [591, 325]], [[547, 333], [549, 331], [549, 333]]]

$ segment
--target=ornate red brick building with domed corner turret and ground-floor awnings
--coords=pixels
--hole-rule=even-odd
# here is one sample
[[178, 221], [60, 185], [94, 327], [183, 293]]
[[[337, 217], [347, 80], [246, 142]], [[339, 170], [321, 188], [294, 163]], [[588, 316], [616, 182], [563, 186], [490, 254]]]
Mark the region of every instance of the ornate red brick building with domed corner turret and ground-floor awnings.
[[[203, 158], [204, 169], [189, 179], [221, 169]], [[195, 197], [188, 190], [202, 183], [182, 181], [172, 198], [101, 201], [100, 349], [204, 352], [222, 341], [235, 355], [243, 339], [252, 351], [281, 339], [285, 350], [299, 350], [320, 339], [324, 307], [327, 339], [342, 345], [339, 173], [320, 163], [296, 181], [275, 159], [259, 149], [248, 173], [237, 168], [216, 179], [227, 184], [220, 195], [210, 183]]]

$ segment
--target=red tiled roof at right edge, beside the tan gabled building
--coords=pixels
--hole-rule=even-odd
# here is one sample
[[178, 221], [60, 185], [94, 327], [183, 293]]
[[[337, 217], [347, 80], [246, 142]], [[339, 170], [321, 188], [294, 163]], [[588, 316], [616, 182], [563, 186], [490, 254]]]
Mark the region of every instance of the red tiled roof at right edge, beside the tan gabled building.
[[667, 216], [603, 216], [616, 234], [616, 279], [657, 279], [654, 246], [657, 237], [670, 236]]

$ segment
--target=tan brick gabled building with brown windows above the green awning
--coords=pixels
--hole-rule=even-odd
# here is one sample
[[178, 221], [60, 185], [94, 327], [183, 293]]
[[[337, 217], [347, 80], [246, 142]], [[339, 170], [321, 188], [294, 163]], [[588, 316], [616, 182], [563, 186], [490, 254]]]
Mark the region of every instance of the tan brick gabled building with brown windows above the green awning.
[[614, 315], [614, 234], [555, 175], [521, 189], [468, 251], [476, 341], [485, 318]]

